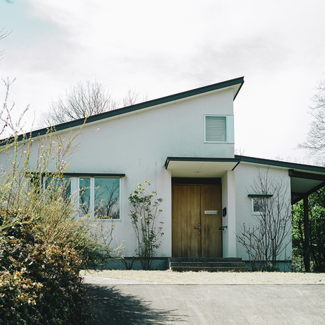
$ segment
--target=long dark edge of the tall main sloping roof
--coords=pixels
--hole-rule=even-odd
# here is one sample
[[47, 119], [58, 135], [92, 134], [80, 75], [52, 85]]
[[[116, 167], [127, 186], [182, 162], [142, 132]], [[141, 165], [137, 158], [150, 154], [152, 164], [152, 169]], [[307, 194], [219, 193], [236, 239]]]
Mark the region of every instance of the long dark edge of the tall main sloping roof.
[[[179, 92], [179, 93], [174, 94], [174, 95], [169, 95], [169, 96], [161, 97], [161, 98], [158, 98], [158, 99], [152, 99], [152, 100], [149, 100], [148, 102], [134, 104], [132, 106], [126, 106], [126, 107], [123, 107], [121, 109], [115, 109], [113, 111], [106, 111], [104, 113], [99, 113], [97, 115], [89, 116], [87, 118], [87, 120], [85, 120], [85, 118], [79, 118], [78, 120], [72, 120], [70, 122], [57, 124], [57, 125], [53, 126], [53, 130], [62, 131], [62, 130], [69, 129], [71, 127], [81, 126], [81, 125], [83, 125], [83, 123], [88, 124], [88, 123], [96, 122], [97, 120], [102, 120], [104, 118], [111, 118], [113, 116], [119, 116], [119, 115], [122, 115], [122, 114], [125, 114], [125, 113], [130, 113], [132, 111], [138, 111], [140, 109], [146, 109], [146, 108], [151, 107], [151, 106], [166, 104], [168, 102], [173, 102], [175, 100], [184, 99], [186, 97], [191, 97], [191, 96], [195, 96], [195, 95], [204, 94], [205, 92], [219, 90], [219, 89], [222, 89], [222, 88], [231, 87], [233, 85], [240, 85], [237, 92], [234, 94], [233, 99], [235, 100], [235, 98], [237, 97], [238, 92], [242, 88], [243, 83], [244, 83], [244, 77], [242, 76], [240, 78], [235, 78], [235, 79], [231, 79], [231, 80], [228, 80], [228, 81], [222, 81], [221, 83], [214, 83], [212, 85], [206, 85], [204, 87], [195, 88], [193, 90], [187, 90], [185, 92]], [[34, 138], [34, 137], [38, 137], [40, 135], [45, 135], [50, 130], [50, 128], [51, 127], [44, 127], [42, 129], [39, 129], [39, 130], [34, 130], [32, 132], [27, 132], [26, 134], [29, 134], [29, 137]], [[24, 137], [24, 134], [20, 134], [18, 136], [18, 141], [21, 141], [23, 139], [23, 137]], [[7, 141], [10, 141], [10, 139], [1, 140], [0, 146], [6, 145], [8, 143]]]

